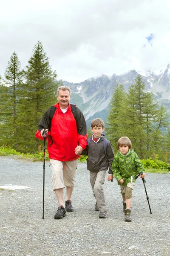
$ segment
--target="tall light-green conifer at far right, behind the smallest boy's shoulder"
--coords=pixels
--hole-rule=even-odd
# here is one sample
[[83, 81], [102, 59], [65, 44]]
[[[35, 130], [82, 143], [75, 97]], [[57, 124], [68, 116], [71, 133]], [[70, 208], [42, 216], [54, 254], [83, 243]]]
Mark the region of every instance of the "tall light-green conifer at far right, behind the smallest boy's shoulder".
[[153, 93], [145, 92], [142, 77], [137, 76], [135, 83], [129, 87], [126, 102], [127, 137], [139, 157], [147, 158], [162, 152], [164, 134], [162, 128], [167, 126], [167, 113], [163, 107], [158, 109]]

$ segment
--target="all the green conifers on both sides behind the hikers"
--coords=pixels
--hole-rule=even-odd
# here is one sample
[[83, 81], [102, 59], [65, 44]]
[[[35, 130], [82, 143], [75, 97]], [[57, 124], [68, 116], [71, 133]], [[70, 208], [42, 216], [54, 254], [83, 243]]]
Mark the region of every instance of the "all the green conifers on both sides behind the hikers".
[[[35, 44], [24, 69], [13, 52], [4, 78], [0, 76], [0, 147], [10, 147], [24, 154], [42, 151], [43, 141], [35, 133], [44, 112], [56, 103], [57, 79], [40, 41]], [[110, 102], [105, 134], [115, 152], [120, 137], [130, 138], [140, 159], [159, 155], [170, 160], [170, 124], [168, 113], [159, 106], [153, 93], [146, 92], [139, 75], [126, 92], [116, 84]], [[170, 162], [170, 161], [168, 161]]]

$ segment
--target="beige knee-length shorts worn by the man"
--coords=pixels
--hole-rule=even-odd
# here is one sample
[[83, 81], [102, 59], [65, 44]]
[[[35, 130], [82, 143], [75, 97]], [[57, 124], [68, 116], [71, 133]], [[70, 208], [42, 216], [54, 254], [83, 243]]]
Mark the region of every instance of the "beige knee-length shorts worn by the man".
[[74, 186], [78, 159], [67, 162], [50, 159], [50, 163], [52, 169], [53, 190], [62, 189], [65, 186]]

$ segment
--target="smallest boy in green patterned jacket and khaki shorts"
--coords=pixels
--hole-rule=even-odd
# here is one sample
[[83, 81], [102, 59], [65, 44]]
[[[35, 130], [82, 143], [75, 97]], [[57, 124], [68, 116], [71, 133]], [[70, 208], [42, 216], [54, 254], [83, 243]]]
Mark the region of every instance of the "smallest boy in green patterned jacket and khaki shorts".
[[125, 221], [132, 221], [130, 207], [132, 204], [132, 190], [135, 185], [135, 176], [143, 172], [140, 177], [144, 178], [144, 167], [137, 154], [133, 151], [129, 138], [121, 137], [118, 140], [117, 147], [119, 151], [113, 159], [112, 172], [118, 185], [120, 185]]

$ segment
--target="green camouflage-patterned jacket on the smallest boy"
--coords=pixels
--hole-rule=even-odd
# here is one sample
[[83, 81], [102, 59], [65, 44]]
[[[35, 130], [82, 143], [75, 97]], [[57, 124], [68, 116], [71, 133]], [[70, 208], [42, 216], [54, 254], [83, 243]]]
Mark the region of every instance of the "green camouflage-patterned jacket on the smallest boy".
[[[135, 176], [139, 172], [144, 172], [143, 164], [140, 162], [138, 155], [130, 149], [127, 155], [122, 155], [121, 152], [117, 152], [112, 163], [112, 172], [119, 185], [126, 186], [131, 181], [135, 182]], [[119, 183], [119, 180], [123, 179], [124, 183]]]

